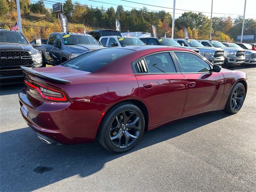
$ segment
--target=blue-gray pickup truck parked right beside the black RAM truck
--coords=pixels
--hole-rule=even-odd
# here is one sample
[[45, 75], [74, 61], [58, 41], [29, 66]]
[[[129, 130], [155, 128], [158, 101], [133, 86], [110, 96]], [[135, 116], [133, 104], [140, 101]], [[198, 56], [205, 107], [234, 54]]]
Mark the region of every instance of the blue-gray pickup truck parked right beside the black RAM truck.
[[58, 65], [86, 52], [102, 48], [104, 47], [91, 35], [78, 33], [52, 33], [47, 44], [36, 47], [42, 52], [44, 65]]

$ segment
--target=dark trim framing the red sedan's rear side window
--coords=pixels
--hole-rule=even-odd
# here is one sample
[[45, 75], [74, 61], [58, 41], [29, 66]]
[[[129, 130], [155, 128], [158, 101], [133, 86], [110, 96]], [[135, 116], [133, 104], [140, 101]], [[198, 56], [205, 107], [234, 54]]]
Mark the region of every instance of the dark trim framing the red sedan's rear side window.
[[[171, 51], [170, 50], [167, 50], [167, 51], [159, 51], [159, 52], [154, 52], [154, 53], [150, 53], [150, 54], [146, 54], [144, 56], [141, 56], [140, 58], [134, 60], [133, 62], [131, 62], [131, 66], [132, 66], [132, 71], [134, 73], [134, 75], [167, 75], [167, 74], [181, 74], [180, 72], [180, 68], [178, 66], [178, 63], [176, 62], [176, 60], [172, 57], [172, 54], [170, 53]], [[145, 60], [145, 57], [148, 57], [148, 56], [151, 56], [151, 55], [155, 55], [155, 54], [160, 54], [160, 53], [169, 53], [170, 55], [170, 58], [174, 64], [174, 68], [176, 69], [176, 73], [150, 73], [149, 71], [146, 72], [146, 73], [139, 73], [136, 69], [136, 66], [135, 64], [137, 62], [139, 62], [140, 60], [144, 59]], [[146, 62], [146, 60], [145, 60]], [[148, 70], [148, 65], [146, 65], [146, 68]]]

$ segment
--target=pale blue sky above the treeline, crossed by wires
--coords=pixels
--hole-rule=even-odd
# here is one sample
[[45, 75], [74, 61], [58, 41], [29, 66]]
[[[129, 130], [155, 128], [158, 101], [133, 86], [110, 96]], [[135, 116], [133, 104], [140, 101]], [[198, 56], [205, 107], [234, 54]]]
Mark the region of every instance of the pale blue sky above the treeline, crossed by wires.
[[[58, 1], [58, 0], [52, 0], [54, 2], [62, 2], [64, 0]], [[81, 4], [87, 4], [92, 6], [103, 6], [104, 8], [109, 8], [110, 6], [113, 6], [116, 10], [117, 5], [124, 6], [125, 10], [134, 8], [142, 8], [143, 6], [146, 6], [149, 10], [165, 10], [166, 12], [171, 12], [173, 8], [173, 0], [128, 0], [131, 2], [125, 2], [122, 0], [77, 0]], [[98, 1], [98, 2], [96, 2]], [[75, 2], [73, 0], [72, 2]], [[142, 5], [142, 4], [136, 4], [132, 2], [138, 2], [138, 3], [144, 3], [144, 4], [150, 4], [155, 6], [163, 6], [168, 8], [160, 8], [155, 6], [148, 6], [148, 5]], [[45, 2], [45, 6], [52, 8], [50, 2]], [[108, 4], [110, 3], [110, 4]], [[117, 5], [112, 5], [117, 4]], [[182, 10], [176, 10], [175, 12], [175, 18], [178, 16], [181, 16], [181, 14], [184, 12], [183, 10], [194, 10], [194, 11], [200, 11], [200, 12], [211, 12], [211, 5], [212, 0], [176, 0], [176, 9], [182, 9]], [[222, 16], [231, 16], [232, 18], [239, 15], [244, 14], [244, 0], [213, 0], [213, 9], [212, 9], [213, 15], [217, 17]], [[214, 14], [214, 13], [221, 13], [221, 14]], [[209, 16], [210, 13], [204, 13], [206, 16]], [[247, 0], [246, 1], [246, 18], [254, 18], [256, 19], [256, 0]]]

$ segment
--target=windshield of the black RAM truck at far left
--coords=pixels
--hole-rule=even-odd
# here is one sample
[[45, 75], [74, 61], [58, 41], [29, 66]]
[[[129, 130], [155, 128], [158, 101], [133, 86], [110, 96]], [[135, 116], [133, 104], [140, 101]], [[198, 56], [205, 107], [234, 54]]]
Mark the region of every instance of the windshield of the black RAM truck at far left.
[[19, 43], [28, 44], [24, 36], [19, 32], [0, 31], [1, 43]]

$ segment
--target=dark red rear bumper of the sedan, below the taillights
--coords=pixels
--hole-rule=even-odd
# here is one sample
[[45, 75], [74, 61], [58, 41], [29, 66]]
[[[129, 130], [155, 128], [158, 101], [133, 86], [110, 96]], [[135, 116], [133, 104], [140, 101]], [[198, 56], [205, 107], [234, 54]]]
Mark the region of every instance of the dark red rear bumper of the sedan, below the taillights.
[[[26, 96], [25, 90], [19, 93], [20, 107], [25, 105], [28, 116], [20, 108], [29, 127], [51, 144], [80, 144], [94, 142], [98, 131], [98, 121], [102, 104], [86, 102], [43, 102], [35, 103]], [[45, 142], [45, 141], [44, 141]]]

